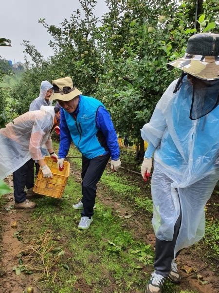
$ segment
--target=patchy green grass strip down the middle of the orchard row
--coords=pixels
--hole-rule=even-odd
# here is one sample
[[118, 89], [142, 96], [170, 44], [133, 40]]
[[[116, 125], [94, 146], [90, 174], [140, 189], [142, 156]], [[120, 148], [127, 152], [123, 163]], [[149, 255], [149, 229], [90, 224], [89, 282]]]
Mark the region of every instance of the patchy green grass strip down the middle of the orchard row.
[[[78, 153], [71, 149], [69, 156], [76, 155]], [[73, 168], [81, 167], [80, 158], [71, 161]], [[43, 221], [36, 233], [52, 230], [54, 245], [65, 251], [54, 273], [43, 283], [43, 290], [51, 293], [144, 292], [153, 271], [152, 247], [136, 240], [124, 229], [128, 219], [114, 216], [98, 199], [91, 228], [78, 230], [80, 211], [74, 210], [72, 205], [81, 198], [81, 184], [75, 179], [69, 178], [62, 199], [44, 196], [37, 199], [37, 209], [32, 214], [34, 219]], [[108, 186], [111, 193], [122, 196], [140, 191], [137, 186], [128, 184], [125, 177], [119, 178], [114, 173], [105, 173], [102, 184]], [[177, 292], [177, 287], [167, 282], [164, 292]]]

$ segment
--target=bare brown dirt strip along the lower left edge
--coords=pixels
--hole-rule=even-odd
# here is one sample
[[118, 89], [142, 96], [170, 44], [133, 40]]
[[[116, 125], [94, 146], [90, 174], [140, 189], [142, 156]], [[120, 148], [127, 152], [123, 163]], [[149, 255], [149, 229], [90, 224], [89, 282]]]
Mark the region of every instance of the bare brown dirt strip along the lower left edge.
[[[13, 187], [11, 178], [8, 178], [8, 184]], [[33, 286], [33, 275], [16, 275], [12, 270], [13, 266], [18, 266], [18, 254], [23, 249], [23, 244], [14, 237], [14, 233], [23, 230], [25, 223], [31, 219], [31, 210], [13, 209], [13, 194], [7, 195], [7, 204], [0, 210], [2, 234], [1, 234], [1, 252], [0, 252], [0, 292], [22, 293], [23, 290]], [[15, 223], [16, 222], [16, 223]], [[25, 265], [25, 263], [24, 263]], [[37, 289], [35, 293], [37, 293]]]

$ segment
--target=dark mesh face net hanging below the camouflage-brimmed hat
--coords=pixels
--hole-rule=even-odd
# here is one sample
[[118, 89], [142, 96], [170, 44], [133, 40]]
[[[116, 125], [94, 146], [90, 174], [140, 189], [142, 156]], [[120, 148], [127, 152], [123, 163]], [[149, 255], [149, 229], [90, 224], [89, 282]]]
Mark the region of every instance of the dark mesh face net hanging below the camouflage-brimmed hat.
[[189, 118], [199, 119], [219, 105], [219, 81], [193, 84], [192, 105]]

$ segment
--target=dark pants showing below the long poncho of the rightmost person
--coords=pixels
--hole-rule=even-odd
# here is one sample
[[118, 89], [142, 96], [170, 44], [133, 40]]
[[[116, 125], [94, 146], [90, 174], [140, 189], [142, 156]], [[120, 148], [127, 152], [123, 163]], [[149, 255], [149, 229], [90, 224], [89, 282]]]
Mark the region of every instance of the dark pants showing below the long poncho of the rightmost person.
[[[171, 269], [172, 260], [174, 259], [175, 245], [181, 227], [181, 218], [182, 215], [180, 211], [180, 215], [174, 225], [172, 241], [159, 240], [156, 237], [154, 269], [157, 274], [160, 274], [164, 277], [168, 276]], [[176, 257], [179, 255], [179, 253], [180, 251], [177, 252]]]

